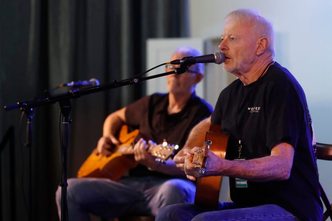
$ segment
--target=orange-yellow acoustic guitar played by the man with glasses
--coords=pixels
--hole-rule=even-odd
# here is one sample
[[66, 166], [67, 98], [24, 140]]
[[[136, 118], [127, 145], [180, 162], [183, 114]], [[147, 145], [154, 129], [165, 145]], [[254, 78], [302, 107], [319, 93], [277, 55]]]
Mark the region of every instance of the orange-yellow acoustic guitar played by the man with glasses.
[[[110, 156], [101, 155], [95, 148], [80, 166], [77, 177], [99, 177], [118, 181], [128, 170], [138, 165], [133, 155], [133, 147], [138, 134], [139, 130], [128, 133], [128, 126], [123, 125], [118, 137], [121, 145], [115, 146]], [[163, 163], [174, 154], [174, 150], [174, 145], [170, 145], [164, 140], [162, 144], [154, 146], [148, 152], [156, 157], [156, 161]]]

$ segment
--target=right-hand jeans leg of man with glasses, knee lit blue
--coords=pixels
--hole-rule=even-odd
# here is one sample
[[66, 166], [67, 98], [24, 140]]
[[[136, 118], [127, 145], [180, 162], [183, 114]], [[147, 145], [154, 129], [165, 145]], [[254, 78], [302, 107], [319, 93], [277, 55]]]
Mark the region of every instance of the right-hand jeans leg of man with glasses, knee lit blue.
[[152, 215], [165, 205], [194, 202], [196, 186], [190, 180], [170, 179], [144, 191]]

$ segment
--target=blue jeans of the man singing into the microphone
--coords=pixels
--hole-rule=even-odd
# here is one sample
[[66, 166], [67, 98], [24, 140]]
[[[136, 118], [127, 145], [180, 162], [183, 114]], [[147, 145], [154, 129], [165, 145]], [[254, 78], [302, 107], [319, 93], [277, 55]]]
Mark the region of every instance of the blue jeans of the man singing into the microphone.
[[160, 209], [155, 221], [170, 220], [299, 220], [292, 213], [275, 204], [240, 208], [232, 202], [224, 202], [219, 209], [211, 210], [193, 203], [179, 203]]

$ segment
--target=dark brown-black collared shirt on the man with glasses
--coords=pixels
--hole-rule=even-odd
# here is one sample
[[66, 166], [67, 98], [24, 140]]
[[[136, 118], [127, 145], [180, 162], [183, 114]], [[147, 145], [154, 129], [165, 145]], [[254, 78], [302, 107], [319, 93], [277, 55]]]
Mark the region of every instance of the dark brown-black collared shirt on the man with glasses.
[[[185, 144], [191, 129], [203, 119], [209, 117], [212, 106], [205, 100], [192, 94], [181, 112], [169, 115], [167, 107], [169, 94], [155, 93], [145, 96], [126, 109], [126, 124], [139, 129], [139, 136], [146, 141], [152, 140], [160, 144], [163, 139], [173, 145], [179, 145], [179, 151]], [[138, 165], [130, 170], [130, 175], [167, 176], [158, 172], [149, 171], [145, 166]]]

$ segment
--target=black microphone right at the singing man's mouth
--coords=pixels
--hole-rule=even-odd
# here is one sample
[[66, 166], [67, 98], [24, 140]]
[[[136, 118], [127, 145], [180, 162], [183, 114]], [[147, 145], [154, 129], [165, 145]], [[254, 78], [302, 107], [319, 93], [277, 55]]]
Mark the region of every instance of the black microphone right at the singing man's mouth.
[[221, 64], [225, 61], [225, 55], [221, 51], [216, 51], [213, 54], [202, 55], [197, 57], [184, 57], [182, 59], [173, 60], [168, 62], [168, 64], [185, 64], [191, 65], [196, 63], [216, 63]]

